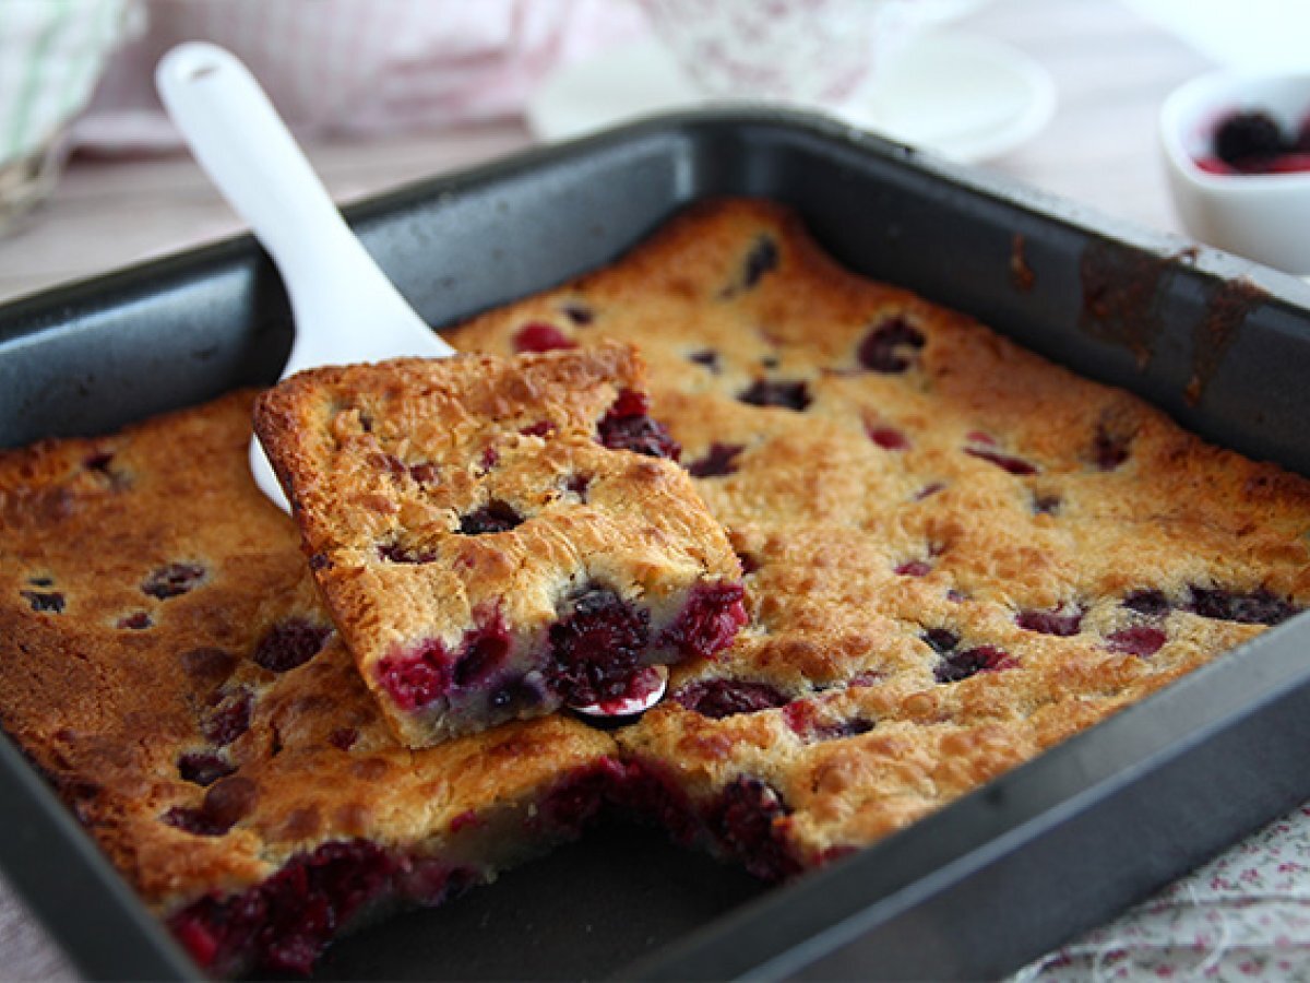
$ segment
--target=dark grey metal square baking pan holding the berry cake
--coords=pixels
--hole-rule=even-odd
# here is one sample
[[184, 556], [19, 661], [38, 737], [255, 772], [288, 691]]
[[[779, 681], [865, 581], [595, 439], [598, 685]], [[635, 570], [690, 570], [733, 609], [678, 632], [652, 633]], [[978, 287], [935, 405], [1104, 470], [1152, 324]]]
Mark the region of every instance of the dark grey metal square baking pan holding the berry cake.
[[[1183, 426], [1310, 473], [1310, 288], [803, 114], [672, 115], [347, 210], [449, 325], [607, 263], [686, 203], [796, 208], [846, 266], [971, 313]], [[249, 237], [0, 308], [0, 446], [275, 379]], [[765, 889], [626, 826], [342, 940], [322, 978], [996, 978], [1310, 797], [1310, 619], [1263, 633], [861, 853]], [[198, 978], [0, 739], [0, 864], [94, 978]]]

